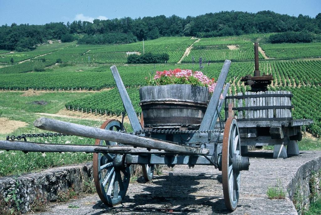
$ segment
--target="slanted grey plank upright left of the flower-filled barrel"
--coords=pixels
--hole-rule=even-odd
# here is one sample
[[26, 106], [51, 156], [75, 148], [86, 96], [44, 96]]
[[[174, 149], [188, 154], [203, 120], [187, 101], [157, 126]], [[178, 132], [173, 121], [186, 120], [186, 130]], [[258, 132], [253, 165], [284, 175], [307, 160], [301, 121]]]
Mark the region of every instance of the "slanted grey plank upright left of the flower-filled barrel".
[[111, 70], [111, 73], [113, 74], [114, 76], [114, 79], [115, 79], [115, 82], [116, 82], [116, 85], [117, 85], [117, 89], [118, 89], [118, 92], [120, 94], [120, 97], [123, 101], [123, 104], [124, 104], [124, 107], [125, 107], [125, 110], [127, 112], [127, 115], [128, 115], [128, 118], [129, 118], [129, 121], [130, 121], [130, 124], [132, 125], [133, 127], [133, 130], [134, 131], [139, 131], [139, 130], [142, 130], [142, 126], [141, 124], [139, 123], [139, 120], [138, 120], [138, 117], [136, 115], [136, 112], [134, 110], [134, 107], [133, 107], [133, 104], [132, 102], [130, 101], [130, 98], [128, 96], [128, 93], [126, 91], [126, 88], [124, 86], [124, 83], [119, 75], [119, 72], [117, 70], [117, 67], [116, 66], [112, 66], [110, 67], [110, 70]]

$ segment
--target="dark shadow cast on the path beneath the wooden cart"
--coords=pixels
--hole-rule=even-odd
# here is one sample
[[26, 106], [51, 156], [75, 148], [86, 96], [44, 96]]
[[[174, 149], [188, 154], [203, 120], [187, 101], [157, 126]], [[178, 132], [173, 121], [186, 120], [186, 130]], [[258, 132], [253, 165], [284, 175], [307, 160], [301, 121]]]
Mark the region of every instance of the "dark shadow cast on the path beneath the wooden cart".
[[[199, 181], [205, 183], [202, 185]], [[221, 183], [221, 174], [169, 172], [168, 175], [155, 176], [152, 183], [141, 184], [144, 192], [135, 194], [131, 198], [126, 195], [120, 206], [111, 208], [99, 201], [93, 209], [106, 209], [95, 214], [112, 211], [155, 213], [169, 212], [170, 209], [173, 209], [172, 212], [200, 213], [205, 206], [211, 207], [213, 213], [226, 214], [230, 211], [225, 208], [223, 194], [215, 196], [213, 193], [214, 195], [210, 197], [208, 195], [208, 189], [219, 187], [222, 189]], [[211, 186], [211, 184], [215, 185]], [[205, 191], [204, 195], [202, 190]]]

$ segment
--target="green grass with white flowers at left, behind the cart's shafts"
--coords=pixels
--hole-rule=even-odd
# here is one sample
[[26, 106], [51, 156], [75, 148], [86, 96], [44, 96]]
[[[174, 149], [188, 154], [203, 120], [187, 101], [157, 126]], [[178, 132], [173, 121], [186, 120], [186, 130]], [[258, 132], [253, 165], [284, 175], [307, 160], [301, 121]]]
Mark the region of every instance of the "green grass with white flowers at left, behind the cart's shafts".
[[[33, 126], [33, 121], [41, 115], [35, 112], [56, 113], [64, 108], [65, 102], [75, 98], [81, 98], [89, 93], [42, 93], [40, 95], [22, 97], [23, 92], [0, 92], [0, 117], [10, 120], [19, 120], [27, 122], [28, 125], [8, 134], [0, 134], [0, 139], [6, 139], [6, 135], [21, 135], [31, 133], [46, 133], [44, 130], [37, 129]], [[91, 93], [92, 94], [92, 93]], [[46, 105], [35, 105], [32, 101], [46, 101]], [[100, 128], [102, 121], [90, 121], [82, 119], [50, 117], [57, 120], [88, 125]], [[125, 125], [126, 128], [128, 124]], [[130, 129], [128, 129], [130, 130]], [[66, 137], [48, 137], [48, 138], [29, 138], [28, 141], [42, 143], [60, 143], [60, 144], [94, 144], [94, 139], [82, 138], [77, 136]], [[24, 154], [21, 151], [0, 151], [0, 176], [16, 175], [40, 169], [86, 163], [92, 161], [92, 153], [86, 154], [82, 152], [62, 152], [62, 153], [40, 153], [29, 152]]]

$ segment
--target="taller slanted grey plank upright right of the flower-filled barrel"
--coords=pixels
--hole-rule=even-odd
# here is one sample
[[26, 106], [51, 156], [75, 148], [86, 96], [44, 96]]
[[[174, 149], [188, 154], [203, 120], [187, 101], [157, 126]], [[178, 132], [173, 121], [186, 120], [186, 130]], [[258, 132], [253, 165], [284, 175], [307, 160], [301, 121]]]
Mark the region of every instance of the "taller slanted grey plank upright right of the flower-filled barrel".
[[[231, 65], [231, 61], [225, 60], [224, 65], [221, 70], [220, 77], [217, 81], [212, 98], [208, 104], [208, 108], [206, 109], [206, 112], [204, 114], [204, 118], [203, 118], [203, 121], [200, 125], [199, 130], [209, 130], [211, 127], [212, 121], [214, 121], [216, 107], [218, 106], [218, 103], [220, 101], [221, 92], [222, 92], [224, 83], [226, 81], [226, 77], [229, 72], [230, 65]], [[217, 119], [217, 117], [216, 117], [216, 119]], [[215, 119], [215, 121], [216, 121], [216, 119]]]

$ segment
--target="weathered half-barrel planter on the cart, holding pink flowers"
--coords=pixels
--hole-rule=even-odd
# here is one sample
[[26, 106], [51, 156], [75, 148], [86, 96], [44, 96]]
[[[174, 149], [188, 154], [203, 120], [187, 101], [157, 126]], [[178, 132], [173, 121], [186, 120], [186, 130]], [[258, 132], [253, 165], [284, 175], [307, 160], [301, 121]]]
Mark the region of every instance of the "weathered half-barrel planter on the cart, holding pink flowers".
[[202, 122], [209, 93], [192, 85], [144, 86], [139, 89], [144, 127], [196, 127]]

